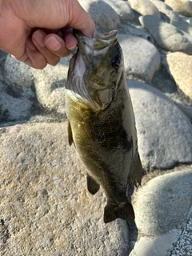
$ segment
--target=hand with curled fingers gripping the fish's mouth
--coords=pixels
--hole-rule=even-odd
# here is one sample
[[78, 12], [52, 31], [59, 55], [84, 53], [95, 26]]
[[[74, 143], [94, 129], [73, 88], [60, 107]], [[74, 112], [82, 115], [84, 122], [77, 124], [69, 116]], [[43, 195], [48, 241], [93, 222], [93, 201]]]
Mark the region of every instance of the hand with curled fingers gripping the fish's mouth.
[[0, 0], [0, 49], [36, 69], [70, 54], [78, 45], [73, 29], [94, 34], [77, 0]]

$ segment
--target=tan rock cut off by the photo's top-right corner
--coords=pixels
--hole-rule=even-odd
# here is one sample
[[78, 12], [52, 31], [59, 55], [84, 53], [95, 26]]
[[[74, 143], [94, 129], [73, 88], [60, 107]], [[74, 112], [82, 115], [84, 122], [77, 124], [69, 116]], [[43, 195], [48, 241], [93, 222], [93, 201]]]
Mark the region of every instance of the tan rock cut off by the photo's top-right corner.
[[168, 6], [173, 8], [178, 14], [183, 16], [192, 16], [192, 2], [190, 0], [166, 0]]

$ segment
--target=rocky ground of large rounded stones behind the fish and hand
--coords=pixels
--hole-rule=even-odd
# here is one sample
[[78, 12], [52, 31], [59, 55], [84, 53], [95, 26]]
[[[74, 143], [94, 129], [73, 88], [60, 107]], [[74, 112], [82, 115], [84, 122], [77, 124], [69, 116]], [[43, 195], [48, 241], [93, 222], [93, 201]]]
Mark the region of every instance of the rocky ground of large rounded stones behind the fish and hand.
[[0, 254], [192, 255], [192, 2], [80, 0], [119, 31], [145, 170], [135, 222], [103, 223], [68, 146], [69, 58], [34, 70], [0, 51]]

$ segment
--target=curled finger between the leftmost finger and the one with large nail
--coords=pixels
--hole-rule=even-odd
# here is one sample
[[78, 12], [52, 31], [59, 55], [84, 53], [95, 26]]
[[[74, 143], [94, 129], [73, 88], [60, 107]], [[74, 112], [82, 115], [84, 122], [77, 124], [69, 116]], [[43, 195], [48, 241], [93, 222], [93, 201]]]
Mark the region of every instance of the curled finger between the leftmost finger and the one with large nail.
[[46, 58], [46, 62], [52, 66], [55, 66], [59, 61], [60, 57], [57, 54], [53, 54], [45, 45], [46, 33], [42, 30], [36, 30], [32, 34], [32, 42], [37, 47], [38, 51]]

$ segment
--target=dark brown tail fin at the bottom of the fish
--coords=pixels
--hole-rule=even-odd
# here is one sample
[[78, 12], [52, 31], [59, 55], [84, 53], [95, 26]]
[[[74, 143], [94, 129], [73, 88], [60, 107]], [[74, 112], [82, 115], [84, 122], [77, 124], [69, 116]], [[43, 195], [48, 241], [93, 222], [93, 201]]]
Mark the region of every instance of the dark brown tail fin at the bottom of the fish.
[[121, 202], [118, 205], [106, 205], [104, 210], [104, 222], [113, 222], [116, 218], [134, 221], [134, 208], [130, 202]]

